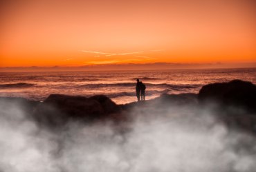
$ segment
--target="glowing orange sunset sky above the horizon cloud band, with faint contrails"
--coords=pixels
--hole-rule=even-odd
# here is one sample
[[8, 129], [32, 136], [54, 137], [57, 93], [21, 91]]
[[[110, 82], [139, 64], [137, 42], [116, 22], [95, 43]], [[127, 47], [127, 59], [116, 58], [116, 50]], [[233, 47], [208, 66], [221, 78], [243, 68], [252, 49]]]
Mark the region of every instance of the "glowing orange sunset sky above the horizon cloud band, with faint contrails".
[[0, 67], [256, 62], [255, 0], [0, 5]]

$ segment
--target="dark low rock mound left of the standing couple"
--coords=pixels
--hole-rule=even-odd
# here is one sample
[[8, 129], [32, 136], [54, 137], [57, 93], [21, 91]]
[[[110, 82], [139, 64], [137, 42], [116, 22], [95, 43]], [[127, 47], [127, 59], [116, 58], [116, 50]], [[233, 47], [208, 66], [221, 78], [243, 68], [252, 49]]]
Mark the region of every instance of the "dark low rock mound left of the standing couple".
[[69, 120], [80, 122], [104, 120], [118, 111], [120, 107], [107, 96], [86, 98], [51, 94], [41, 105], [37, 106], [33, 114], [39, 124], [60, 127]]

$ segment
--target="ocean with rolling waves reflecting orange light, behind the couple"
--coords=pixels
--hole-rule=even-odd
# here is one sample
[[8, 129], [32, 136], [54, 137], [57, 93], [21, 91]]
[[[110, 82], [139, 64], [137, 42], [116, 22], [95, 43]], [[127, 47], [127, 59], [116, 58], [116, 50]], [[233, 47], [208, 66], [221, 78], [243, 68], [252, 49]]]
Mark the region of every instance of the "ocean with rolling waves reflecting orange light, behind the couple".
[[50, 94], [104, 94], [117, 104], [136, 101], [136, 79], [145, 83], [146, 100], [161, 94], [198, 93], [203, 85], [233, 79], [256, 84], [256, 68], [170, 69], [107, 72], [1, 72], [0, 96], [44, 100]]

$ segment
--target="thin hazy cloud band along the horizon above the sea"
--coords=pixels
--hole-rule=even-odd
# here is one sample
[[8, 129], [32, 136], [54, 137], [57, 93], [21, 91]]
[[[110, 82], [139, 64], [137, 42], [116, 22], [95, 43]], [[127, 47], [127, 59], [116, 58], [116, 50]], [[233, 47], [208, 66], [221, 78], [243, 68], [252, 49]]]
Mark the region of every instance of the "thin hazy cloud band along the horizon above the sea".
[[254, 63], [121, 63], [80, 66], [15, 66], [0, 67], [0, 72], [57, 72], [57, 71], [123, 71], [152, 69], [237, 69], [256, 68]]

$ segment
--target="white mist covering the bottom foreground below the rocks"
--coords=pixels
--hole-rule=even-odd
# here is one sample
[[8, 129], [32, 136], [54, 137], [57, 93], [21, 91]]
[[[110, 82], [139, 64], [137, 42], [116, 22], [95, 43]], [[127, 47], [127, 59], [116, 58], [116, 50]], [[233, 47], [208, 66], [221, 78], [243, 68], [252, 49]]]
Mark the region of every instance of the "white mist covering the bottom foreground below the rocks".
[[136, 106], [129, 120], [39, 127], [0, 103], [0, 171], [255, 171], [255, 136], [226, 127], [214, 106]]

